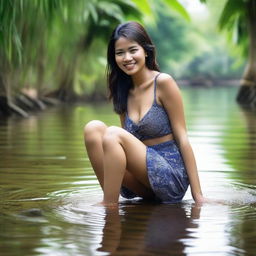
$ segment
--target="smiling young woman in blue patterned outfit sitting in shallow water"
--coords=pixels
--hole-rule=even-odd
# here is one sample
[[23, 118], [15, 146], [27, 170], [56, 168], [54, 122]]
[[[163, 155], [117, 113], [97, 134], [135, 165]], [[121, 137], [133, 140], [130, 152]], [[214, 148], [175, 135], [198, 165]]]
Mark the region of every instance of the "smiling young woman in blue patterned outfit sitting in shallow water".
[[104, 191], [104, 205], [119, 194], [180, 202], [190, 184], [197, 203], [200, 182], [178, 86], [160, 73], [155, 47], [137, 22], [120, 24], [108, 45], [108, 88], [121, 126], [90, 121], [85, 145]]

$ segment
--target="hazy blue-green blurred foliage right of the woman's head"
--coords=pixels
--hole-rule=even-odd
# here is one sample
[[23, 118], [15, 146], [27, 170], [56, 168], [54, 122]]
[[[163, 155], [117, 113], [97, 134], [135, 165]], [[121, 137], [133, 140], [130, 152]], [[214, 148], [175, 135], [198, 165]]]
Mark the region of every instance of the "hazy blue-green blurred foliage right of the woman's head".
[[163, 72], [179, 79], [240, 78], [243, 65], [234, 65], [225, 41], [212, 24], [212, 16], [200, 23], [192, 19], [186, 22], [160, 4], [156, 14], [156, 25], [149, 26], [148, 30], [156, 44]]

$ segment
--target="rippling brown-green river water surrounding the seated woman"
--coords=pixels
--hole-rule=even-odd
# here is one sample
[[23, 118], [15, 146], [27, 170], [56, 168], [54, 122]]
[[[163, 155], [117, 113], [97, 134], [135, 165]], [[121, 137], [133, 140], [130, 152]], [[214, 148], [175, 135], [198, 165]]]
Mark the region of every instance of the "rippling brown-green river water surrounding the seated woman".
[[189, 138], [206, 197], [195, 206], [102, 192], [83, 145], [92, 119], [118, 125], [109, 104], [50, 108], [0, 121], [0, 255], [256, 255], [256, 114], [237, 88], [184, 88]]

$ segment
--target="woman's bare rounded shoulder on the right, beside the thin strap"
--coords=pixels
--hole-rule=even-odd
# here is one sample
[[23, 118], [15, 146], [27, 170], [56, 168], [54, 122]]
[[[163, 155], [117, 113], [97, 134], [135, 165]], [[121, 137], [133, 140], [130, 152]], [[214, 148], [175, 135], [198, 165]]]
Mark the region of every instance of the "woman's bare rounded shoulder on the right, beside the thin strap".
[[166, 73], [161, 73], [157, 78], [157, 88], [162, 95], [178, 93], [179, 88], [175, 80], [171, 75]]

